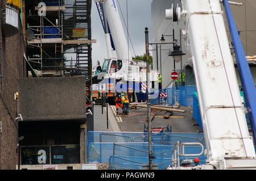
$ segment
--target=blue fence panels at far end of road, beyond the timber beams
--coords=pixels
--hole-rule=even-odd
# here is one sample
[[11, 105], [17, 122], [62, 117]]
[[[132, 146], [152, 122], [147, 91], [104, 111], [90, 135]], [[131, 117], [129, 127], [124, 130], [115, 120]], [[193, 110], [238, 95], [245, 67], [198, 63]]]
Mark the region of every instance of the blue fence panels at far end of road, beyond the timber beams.
[[[155, 90], [160, 92], [167, 92], [167, 98], [151, 99], [151, 104], [168, 104], [174, 105], [176, 102], [180, 103], [180, 106], [193, 106], [193, 92], [196, 92], [196, 86], [180, 86], [171, 87], [162, 90]], [[175, 102], [176, 98], [176, 102]]]

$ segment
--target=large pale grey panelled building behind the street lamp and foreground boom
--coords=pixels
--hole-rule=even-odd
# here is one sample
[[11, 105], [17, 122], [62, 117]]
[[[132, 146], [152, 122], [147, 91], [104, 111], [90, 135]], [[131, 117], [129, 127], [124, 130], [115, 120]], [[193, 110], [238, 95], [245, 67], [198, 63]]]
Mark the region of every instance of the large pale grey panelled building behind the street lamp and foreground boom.
[[[256, 16], [256, 1], [251, 0], [239, 0], [235, 2], [242, 2], [242, 6], [232, 5], [232, 11], [234, 18], [237, 23], [238, 31], [240, 31], [243, 48], [247, 56], [251, 56], [249, 64], [251, 67], [251, 73], [253, 74], [255, 85], [256, 85], [256, 23], [254, 18]], [[181, 72], [183, 70], [184, 77], [181, 75], [179, 85], [195, 86], [195, 78], [193, 75], [193, 65], [189, 61], [189, 52], [185, 47], [184, 37], [182, 36], [181, 30], [184, 30], [184, 22], [172, 23], [172, 20], [166, 19], [166, 9], [170, 9], [172, 6], [179, 4], [181, 7], [180, 0], [153, 0], [151, 3], [152, 12], [152, 41], [154, 43], [161, 43], [160, 39], [162, 34], [164, 35], [165, 42], [172, 42], [172, 31], [174, 31], [175, 39], [177, 39], [178, 45], [181, 50], [186, 53], [183, 56], [183, 60], [179, 63], [175, 63], [175, 70]], [[228, 25], [226, 30], [229, 36]], [[230, 39], [230, 37], [229, 37]], [[172, 44], [166, 45], [152, 45], [150, 48], [153, 56], [153, 69], [158, 70], [162, 74], [162, 88], [172, 87], [173, 81], [171, 80], [171, 72], [174, 71], [174, 60], [168, 56], [169, 51], [173, 50]], [[253, 57], [254, 56], [254, 57]], [[235, 60], [235, 59], [234, 59]], [[238, 75], [238, 73], [237, 73]], [[238, 75], [239, 79], [239, 75]], [[240, 82], [240, 80], [239, 80]], [[241, 83], [240, 83], [241, 84]]]

